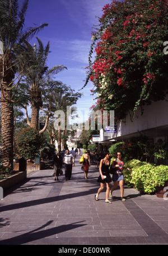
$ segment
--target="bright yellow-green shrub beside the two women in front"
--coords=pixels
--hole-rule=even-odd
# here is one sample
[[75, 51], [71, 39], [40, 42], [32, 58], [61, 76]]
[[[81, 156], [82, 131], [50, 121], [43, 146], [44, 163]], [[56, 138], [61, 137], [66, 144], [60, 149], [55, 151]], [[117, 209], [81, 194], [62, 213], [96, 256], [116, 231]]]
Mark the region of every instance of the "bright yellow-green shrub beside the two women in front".
[[156, 191], [156, 187], [164, 185], [168, 180], [168, 166], [148, 164], [139, 160], [128, 161], [125, 167], [132, 171], [124, 170], [125, 182], [128, 187], [134, 187], [139, 192], [150, 194]]

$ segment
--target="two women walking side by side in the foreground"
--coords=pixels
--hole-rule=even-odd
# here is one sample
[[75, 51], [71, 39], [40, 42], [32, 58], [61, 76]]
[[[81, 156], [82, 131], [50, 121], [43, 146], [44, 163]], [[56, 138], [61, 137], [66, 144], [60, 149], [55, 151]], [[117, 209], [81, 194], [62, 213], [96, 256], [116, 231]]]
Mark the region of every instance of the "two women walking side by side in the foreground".
[[[110, 190], [110, 183], [111, 183], [111, 176], [110, 176], [110, 169], [113, 170], [113, 187]], [[97, 179], [97, 182], [100, 183], [100, 188], [97, 191], [97, 194], [95, 195], [95, 200], [99, 200], [99, 194], [102, 192], [102, 190], [105, 187], [106, 183], [106, 203], [112, 203], [109, 201], [109, 196], [112, 198], [113, 191], [118, 187], [118, 184], [120, 186], [120, 198], [122, 201], [125, 201], [125, 198], [123, 198], [124, 194], [124, 175], [123, 175], [123, 169], [129, 168], [124, 167], [124, 162], [122, 160], [122, 153], [117, 152], [117, 157], [112, 161], [112, 164], [110, 166], [110, 153], [106, 153], [104, 159], [101, 159], [100, 166], [99, 166], [99, 172], [100, 176]]]

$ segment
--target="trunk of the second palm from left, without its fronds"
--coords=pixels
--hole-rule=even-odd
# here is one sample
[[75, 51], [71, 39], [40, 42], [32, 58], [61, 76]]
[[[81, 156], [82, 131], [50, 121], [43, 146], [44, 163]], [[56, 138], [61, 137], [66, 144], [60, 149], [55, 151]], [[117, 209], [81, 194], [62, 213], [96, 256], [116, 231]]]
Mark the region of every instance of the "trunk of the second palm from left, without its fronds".
[[39, 110], [43, 102], [41, 99], [41, 90], [31, 88], [31, 127], [38, 130]]

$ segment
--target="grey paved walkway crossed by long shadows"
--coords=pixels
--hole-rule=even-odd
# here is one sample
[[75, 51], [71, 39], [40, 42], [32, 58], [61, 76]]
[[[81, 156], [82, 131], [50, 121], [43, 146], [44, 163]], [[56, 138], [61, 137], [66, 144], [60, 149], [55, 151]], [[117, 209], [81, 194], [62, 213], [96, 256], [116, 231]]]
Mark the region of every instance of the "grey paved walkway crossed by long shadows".
[[127, 187], [125, 202], [119, 189], [112, 204], [105, 203], [105, 191], [95, 201], [99, 170], [92, 166], [85, 180], [79, 159], [69, 181], [40, 170], [4, 193], [1, 245], [168, 244], [168, 201]]

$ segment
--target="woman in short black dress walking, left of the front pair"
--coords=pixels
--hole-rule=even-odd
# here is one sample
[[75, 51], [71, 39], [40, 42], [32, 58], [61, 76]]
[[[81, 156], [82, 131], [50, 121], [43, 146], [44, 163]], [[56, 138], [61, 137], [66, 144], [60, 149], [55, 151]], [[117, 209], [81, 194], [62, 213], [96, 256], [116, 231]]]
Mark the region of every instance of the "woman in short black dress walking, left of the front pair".
[[106, 153], [104, 159], [100, 160], [100, 166], [99, 166], [99, 171], [100, 171], [100, 176], [97, 179], [97, 182], [100, 183], [100, 188], [97, 191], [97, 194], [95, 195], [95, 200], [98, 201], [99, 199], [99, 194], [102, 192], [102, 190], [105, 187], [106, 183], [106, 203], [111, 203], [109, 201], [109, 193], [110, 193], [110, 183], [111, 183], [111, 176], [109, 173], [109, 166], [110, 166], [110, 153]]

